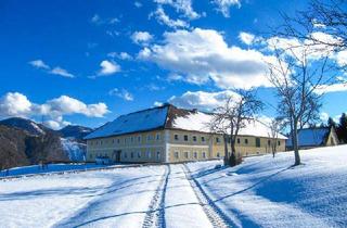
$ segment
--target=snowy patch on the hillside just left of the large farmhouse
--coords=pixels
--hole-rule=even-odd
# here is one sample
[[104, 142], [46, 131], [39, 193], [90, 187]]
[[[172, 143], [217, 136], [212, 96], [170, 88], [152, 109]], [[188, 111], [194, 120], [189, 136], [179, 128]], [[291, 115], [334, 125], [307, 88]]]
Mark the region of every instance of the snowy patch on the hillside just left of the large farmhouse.
[[77, 142], [75, 139], [61, 138], [63, 150], [67, 153], [72, 162], [85, 162], [87, 144]]

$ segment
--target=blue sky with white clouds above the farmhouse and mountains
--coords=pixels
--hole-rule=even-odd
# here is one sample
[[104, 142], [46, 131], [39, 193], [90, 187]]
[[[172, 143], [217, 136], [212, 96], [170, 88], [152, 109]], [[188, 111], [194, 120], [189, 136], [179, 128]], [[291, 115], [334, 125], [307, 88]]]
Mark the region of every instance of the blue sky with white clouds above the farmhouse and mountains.
[[[259, 75], [264, 47], [252, 43], [281, 23], [279, 12], [293, 14], [307, 2], [182, 2], [1, 1], [0, 117], [97, 127], [166, 101], [211, 109], [226, 90], [247, 86], [275, 105]], [[327, 93], [322, 112], [346, 112], [345, 96]], [[275, 113], [268, 105], [264, 115]]]

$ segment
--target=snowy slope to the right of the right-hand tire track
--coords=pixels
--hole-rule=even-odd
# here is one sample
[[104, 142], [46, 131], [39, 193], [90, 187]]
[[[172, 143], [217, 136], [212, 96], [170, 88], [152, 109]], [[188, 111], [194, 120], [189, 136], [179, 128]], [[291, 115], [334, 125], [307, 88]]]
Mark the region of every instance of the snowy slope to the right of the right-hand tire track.
[[191, 164], [194, 177], [239, 227], [346, 227], [347, 145], [248, 157], [233, 168]]

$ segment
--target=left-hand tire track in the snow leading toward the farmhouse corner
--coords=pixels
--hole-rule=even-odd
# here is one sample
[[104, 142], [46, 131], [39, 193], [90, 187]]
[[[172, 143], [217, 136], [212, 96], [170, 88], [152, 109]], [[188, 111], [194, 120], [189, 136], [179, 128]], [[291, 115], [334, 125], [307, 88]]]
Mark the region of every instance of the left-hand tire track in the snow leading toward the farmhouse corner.
[[166, 165], [165, 174], [151, 201], [149, 211], [143, 220], [142, 228], [166, 227], [165, 223], [165, 195], [167, 182], [171, 173], [170, 165]]

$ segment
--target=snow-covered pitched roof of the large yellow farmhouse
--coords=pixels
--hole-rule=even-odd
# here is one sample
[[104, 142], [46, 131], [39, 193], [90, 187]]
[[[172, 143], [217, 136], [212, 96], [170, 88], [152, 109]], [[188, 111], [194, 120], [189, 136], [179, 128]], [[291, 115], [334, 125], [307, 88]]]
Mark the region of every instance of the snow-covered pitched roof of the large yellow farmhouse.
[[[207, 124], [213, 115], [197, 110], [179, 109], [171, 104], [143, 110], [127, 115], [121, 115], [115, 121], [105, 124], [91, 132], [86, 139], [119, 136], [131, 132], [154, 129], [181, 129], [190, 131], [209, 132]], [[246, 123], [246, 127], [239, 132], [240, 136], [269, 137], [271, 130], [259, 121]], [[279, 134], [280, 139], [286, 137]]]

